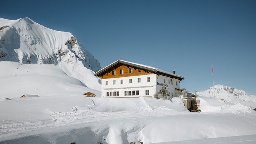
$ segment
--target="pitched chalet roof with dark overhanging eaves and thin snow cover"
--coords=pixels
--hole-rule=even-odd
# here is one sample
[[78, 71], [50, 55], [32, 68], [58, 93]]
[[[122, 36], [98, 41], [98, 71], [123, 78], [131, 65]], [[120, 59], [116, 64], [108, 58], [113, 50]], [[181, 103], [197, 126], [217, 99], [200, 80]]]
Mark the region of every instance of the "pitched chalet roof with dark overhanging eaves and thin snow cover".
[[134, 63], [134, 62], [128, 62], [128, 61], [125, 61], [125, 60], [117, 60], [117, 61], [111, 63], [110, 65], [108, 65], [105, 68], [102, 68], [101, 70], [96, 72], [94, 74], [94, 76], [101, 76], [102, 73], [106, 72], [109, 68], [115, 66], [116, 64], [126, 64], [128, 66], [134, 66], [136, 68], [142, 68], [144, 70], [149, 70], [149, 71], [152, 71], [156, 74], [161, 74], [161, 75], [164, 75], [164, 76], [174, 77], [174, 78], [177, 78], [179, 80], [184, 80], [184, 77], [180, 76], [178, 74], [173, 74], [172, 72], [166, 72], [166, 71], [161, 70], [159, 68], [154, 68], [152, 66], [146, 66], [144, 64], [138, 64], [138, 63]]

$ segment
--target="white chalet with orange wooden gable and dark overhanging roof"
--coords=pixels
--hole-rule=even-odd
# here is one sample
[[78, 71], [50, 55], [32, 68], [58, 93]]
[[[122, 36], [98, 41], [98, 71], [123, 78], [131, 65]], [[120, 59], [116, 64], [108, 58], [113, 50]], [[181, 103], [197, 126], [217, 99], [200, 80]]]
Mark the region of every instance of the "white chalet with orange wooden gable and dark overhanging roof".
[[[180, 81], [183, 76], [175, 72], [166, 72], [158, 68], [117, 60], [96, 72], [94, 76], [102, 78], [102, 97], [153, 97], [162, 86], [166, 86], [170, 97], [178, 97]], [[160, 95], [158, 94], [158, 97]]]

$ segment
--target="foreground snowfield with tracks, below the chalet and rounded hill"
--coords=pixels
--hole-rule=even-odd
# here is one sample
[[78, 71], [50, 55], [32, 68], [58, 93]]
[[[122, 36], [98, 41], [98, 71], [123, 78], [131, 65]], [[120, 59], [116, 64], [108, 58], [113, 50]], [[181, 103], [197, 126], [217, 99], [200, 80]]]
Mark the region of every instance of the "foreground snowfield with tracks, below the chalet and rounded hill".
[[2, 101], [1, 109], [11, 102], [22, 109], [5, 109], [16, 118], [1, 112], [0, 143], [148, 144], [256, 134], [255, 113], [190, 113], [179, 98], [62, 98]]

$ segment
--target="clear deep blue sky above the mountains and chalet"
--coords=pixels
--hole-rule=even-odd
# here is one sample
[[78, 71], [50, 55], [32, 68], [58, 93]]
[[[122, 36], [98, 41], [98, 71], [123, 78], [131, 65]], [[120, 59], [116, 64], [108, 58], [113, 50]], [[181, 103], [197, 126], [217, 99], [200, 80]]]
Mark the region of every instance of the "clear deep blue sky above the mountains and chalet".
[[101, 67], [118, 60], [185, 79], [190, 92], [214, 84], [256, 93], [255, 0], [8, 0], [0, 17], [29, 17], [71, 32]]

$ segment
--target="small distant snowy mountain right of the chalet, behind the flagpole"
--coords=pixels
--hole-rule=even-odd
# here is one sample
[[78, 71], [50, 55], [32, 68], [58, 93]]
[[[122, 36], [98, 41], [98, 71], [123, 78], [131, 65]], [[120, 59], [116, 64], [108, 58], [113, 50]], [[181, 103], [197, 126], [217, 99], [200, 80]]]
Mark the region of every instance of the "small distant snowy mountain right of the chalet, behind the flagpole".
[[197, 92], [198, 96], [210, 97], [210, 98], [222, 98], [228, 102], [238, 102], [239, 100], [247, 102], [256, 102], [256, 96], [252, 94], [246, 94], [244, 90], [238, 90], [234, 87], [214, 85], [208, 90], [203, 92]]

